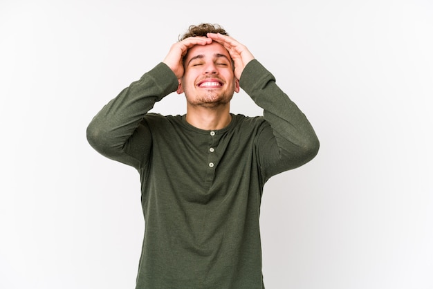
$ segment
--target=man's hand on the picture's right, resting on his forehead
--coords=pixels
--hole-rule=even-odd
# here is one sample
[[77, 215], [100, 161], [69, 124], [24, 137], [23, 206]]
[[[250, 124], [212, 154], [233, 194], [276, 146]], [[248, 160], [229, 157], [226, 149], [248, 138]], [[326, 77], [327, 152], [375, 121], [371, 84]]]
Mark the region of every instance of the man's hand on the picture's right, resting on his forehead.
[[250, 53], [250, 50], [230, 36], [221, 35], [219, 33], [208, 33], [208, 37], [228, 50], [228, 53], [230, 53], [230, 57], [232, 57], [234, 62], [234, 77], [239, 80], [243, 68], [245, 68], [248, 62], [255, 58]]

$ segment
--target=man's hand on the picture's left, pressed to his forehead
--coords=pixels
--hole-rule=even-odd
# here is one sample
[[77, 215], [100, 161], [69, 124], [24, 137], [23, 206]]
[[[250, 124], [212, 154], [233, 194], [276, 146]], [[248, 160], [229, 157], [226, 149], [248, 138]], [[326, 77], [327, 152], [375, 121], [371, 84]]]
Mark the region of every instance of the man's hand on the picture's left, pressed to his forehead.
[[172, 69], [178, 79], [183, 77], [183, 57], [187, 54], [188, 49], [194, 45], [211, 44], [212, 39], [208, 37], [188, 37], [172, 45], [169, 53], [163, 60], [167, 66]]

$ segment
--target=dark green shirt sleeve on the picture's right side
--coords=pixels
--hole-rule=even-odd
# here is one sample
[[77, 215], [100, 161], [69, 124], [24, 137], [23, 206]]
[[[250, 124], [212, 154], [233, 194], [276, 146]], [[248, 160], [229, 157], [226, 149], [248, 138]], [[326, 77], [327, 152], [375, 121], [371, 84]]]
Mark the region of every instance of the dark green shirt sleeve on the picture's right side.
[[257, 59], [244, 68], [239, 84], [264, 109], [266, 122], [257, 136], [257, 151], [266, 180], [316, 156], [319, 140], [310, 122]]

